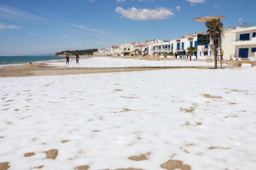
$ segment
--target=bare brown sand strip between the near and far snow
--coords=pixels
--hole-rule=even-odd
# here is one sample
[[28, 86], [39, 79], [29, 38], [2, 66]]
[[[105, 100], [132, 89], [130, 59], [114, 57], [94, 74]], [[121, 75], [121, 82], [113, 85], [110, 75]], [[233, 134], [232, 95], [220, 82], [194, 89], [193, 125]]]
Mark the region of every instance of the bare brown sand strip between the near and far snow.
[[127, 71], [148, 71], [161, 69], [181, 69], [181, 68], [196, 68], [210, 69], [212, 67], [110, 67], [110, 68], [66, 68], [66, 67], [49, 67], [45, 63], [40, 64], [25, 64], [15, 67], [0, 68], [0, 78], [7, 77], [25, 77], [25, 76], [51, 76], [51, 75], [79, 75], [91, 73], [114, 73]]

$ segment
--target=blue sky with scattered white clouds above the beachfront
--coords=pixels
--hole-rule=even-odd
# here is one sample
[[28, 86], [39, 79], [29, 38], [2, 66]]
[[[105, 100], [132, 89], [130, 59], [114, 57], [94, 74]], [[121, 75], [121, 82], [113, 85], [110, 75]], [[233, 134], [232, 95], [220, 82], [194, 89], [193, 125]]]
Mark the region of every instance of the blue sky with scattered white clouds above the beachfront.
[[[213, 4], [213, 8], [212, 8]], [[206, 30], [193, 18], [224, 15], [224, 26], [256, 24], [255, 0], [0, 0], [0, 55], [43, 55], [171, 40]]]

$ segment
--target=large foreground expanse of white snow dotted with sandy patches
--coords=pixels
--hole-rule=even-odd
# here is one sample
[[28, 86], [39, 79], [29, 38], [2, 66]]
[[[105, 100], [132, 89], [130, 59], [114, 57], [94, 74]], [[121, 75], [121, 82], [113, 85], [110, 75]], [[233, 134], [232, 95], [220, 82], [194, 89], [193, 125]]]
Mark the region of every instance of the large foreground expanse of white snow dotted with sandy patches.
[[[156, 170], [181, 160], [191, 169], [254, 170], [255, 73], [170, 69], [0, 78], [0, 163]], [[44, 153], [51, 149], [58, 150], [55, 160]], [[30, 152], [35, 155], [23, 156]], [[140, 154], [148, 160], [128, 159]]]

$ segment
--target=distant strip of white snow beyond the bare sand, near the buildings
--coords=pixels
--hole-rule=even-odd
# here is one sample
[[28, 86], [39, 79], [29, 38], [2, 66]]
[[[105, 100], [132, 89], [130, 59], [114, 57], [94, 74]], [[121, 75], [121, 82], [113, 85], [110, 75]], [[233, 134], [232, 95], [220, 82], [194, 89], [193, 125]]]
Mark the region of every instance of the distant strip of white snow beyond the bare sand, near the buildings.
[[57, 67], [186, 67], [186, 66], [212, 66], [213, 62], [189, 61], [189, 60], [139, 60], [139, 59], [118, 59], [109, 57], [90, 57], [88, 59], [80, 59], [79, 64], [75, 63], [75, 59], [66, 62], [49, 63], [50, 66]]

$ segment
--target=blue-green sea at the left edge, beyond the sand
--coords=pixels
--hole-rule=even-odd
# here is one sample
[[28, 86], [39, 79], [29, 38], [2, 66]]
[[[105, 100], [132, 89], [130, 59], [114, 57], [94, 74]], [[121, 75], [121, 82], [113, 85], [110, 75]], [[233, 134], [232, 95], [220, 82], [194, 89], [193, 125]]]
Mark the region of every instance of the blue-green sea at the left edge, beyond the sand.
[[[72, 57], [70, 57], [72, 58]], [[56, 57], [54, 55], [20, 55], [20, 56], [0, 56], [0, 67], [6, 67], [11, 65], [20, 65], [23, 63], [38, 63], [47, 62], [53, 60], [63, 60], [66, 57]]]

